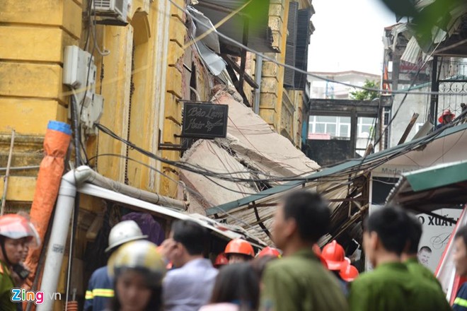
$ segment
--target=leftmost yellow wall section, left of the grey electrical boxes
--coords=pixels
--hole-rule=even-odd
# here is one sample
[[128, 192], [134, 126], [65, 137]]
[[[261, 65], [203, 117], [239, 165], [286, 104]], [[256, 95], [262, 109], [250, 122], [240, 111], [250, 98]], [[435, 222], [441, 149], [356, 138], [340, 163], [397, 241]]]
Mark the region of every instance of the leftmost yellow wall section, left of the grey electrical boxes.
[[[12, 129], [12, 165], [38, 165], [47, 123], [67, 121], [63, 46], [81, 36], [81, 2], [0, 0], [0, 8], [0, 167], [6, 166]], [[32, 201], [36, 175], [12, 171], [6, 199]], [[0, 196], [3, 177], [1, 183]]]

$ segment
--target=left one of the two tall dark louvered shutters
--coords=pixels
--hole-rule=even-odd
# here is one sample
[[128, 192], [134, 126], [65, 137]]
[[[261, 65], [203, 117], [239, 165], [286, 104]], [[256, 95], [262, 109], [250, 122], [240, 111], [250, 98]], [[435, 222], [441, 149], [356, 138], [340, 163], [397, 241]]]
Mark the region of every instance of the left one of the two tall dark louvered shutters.
[[[295, 45], [296, 45], [296, 20], [299, 4], [297, 2], [289, 3], [289, 20], [287, 22], [287, 42], [285, 47], [285, 64], [295, 66]], [[284, 69], [284, 86], [293, 87], [295, 80], [295, 71], [293, 69]]]

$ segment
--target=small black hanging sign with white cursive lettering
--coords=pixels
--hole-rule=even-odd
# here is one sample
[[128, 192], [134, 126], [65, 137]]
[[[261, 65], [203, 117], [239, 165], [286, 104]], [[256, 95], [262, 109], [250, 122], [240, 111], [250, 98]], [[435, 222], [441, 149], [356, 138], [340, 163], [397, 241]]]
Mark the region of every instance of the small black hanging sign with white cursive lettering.
[[228, 116], [228, 105], [185, 102], [182, 136], [198, 139], [225, 138]]

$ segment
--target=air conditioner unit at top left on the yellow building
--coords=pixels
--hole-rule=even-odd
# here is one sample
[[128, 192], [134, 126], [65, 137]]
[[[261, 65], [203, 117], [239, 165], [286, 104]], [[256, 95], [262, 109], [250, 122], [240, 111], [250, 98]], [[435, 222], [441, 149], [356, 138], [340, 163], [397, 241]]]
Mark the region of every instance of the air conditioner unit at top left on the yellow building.
[[100, 24], [105, 24], [105, 21], [118, 20], [127, 24], [127, 16], [132, 5], [132, 0], [93, 0], [91, 11], [96, 16], [100, 17]]

